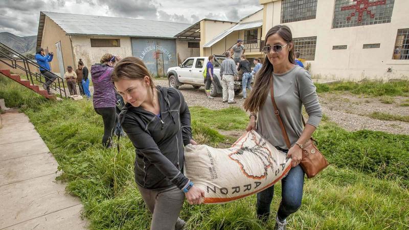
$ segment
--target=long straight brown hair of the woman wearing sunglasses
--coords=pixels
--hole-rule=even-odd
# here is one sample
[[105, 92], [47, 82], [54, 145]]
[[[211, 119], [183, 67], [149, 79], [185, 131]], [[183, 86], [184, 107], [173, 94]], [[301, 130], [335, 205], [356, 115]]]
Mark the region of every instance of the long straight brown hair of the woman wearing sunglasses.
[[[272, 27], [267, 34], [265, 35], [265, 41], [267, 38], [273, 34], [278, 34], [284, 41], [287, 43], [292, 42], [292, 33], [290, 28], [283, 25], [277, 25]], [[293, 47], [288, 52], [288, 60], [292, 64], [294, 64], [294, 49]], [[270, 88], [270, 80], [272, 77], [272, 72], [274, 71], [274, 67], [270, 63], [267, 57], [264, 58], [263, 66], [261, 67], [260, 71], [257, 72], [254, 82], [253, 89], [249, 95], [249, 97], [244, 101], [244, 109], [251, 112], [258, 112], [261, 106], [264, 105], [264, 102], [268, 95], [268, 90]]]

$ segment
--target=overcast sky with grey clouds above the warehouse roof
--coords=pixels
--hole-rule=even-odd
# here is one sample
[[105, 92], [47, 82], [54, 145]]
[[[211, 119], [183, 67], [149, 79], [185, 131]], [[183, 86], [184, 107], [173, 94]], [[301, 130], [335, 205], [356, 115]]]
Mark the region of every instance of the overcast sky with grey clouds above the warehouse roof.
[[259, 0], [0, 0], [0, 32], [37, 35], [40, 11], [193, 23], [238, 21], [261, 8]]

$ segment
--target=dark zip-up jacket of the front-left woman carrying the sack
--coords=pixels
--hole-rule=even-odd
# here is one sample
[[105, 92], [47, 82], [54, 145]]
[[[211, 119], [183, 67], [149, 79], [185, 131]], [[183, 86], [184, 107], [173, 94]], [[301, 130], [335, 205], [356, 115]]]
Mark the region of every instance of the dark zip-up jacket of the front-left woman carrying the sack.
[[160, 117], [127, 103], [120, 113], [123, 130], [135, 147], [135, 182], [145, 189], [183, 189], [184, 146], [190, 143], [189, 107], [179, 90], [156, 86]]

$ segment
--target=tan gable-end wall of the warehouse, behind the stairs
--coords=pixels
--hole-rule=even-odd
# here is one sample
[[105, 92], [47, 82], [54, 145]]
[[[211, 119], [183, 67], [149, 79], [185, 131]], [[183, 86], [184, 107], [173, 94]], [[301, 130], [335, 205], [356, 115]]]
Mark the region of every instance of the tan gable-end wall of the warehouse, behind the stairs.
[[[58, 60], [57, 48], [55, 47], [55, 43], [58, 41], [61, 41], [61, 51], [64, 59], [64, 65], [76, 66], [76, 64], [74, 64], [75, 62], [73, 58], [70, 36], [66, 35], [65, 31], [63, 31], [53, 20], [46, 16], [44, 21], [44, 29], [42, 32], [41, 47], [43, 49], [48, 49], [49, 52], [54, 52], [54, 58], [50, 62], [50, 66], [51, 71], [57, 75], [60, 73], [58, 62], [61, 61]], [[63, 72], [65, 72], [65, 70], [63, 70]]]

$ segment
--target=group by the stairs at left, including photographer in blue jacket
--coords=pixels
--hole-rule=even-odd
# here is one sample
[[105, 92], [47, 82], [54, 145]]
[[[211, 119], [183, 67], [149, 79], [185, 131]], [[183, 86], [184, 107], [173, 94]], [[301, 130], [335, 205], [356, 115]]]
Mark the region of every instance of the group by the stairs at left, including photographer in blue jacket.
[[[44, 76], [45, 82], [43, 88], [47, 90], [48, 94], [52, 94], [50, 90], [52, 83], [57, 78], [55, 74], [51, 73], [50, 63], [53, 60], [54, 53], [50, 52], [46, 55], [43, 48], [38, 48], [35, 59], [39, 65], [40, 73]], [[70, 91], [70, 95], [77, 95], [77, 84], [80, 91], [80, 95], [85, 95], [87, 98], [91, 97], [89, 92], [89, 80], [88, 80], [88, 68], [84, 65], [84, 62], [80, 58], [78, 61], [78, 68], [73, 71], [71, 65], [67, 66], [64, 74], [64, 79], [67, 83], [67, 87]]]

